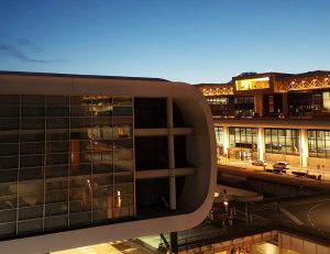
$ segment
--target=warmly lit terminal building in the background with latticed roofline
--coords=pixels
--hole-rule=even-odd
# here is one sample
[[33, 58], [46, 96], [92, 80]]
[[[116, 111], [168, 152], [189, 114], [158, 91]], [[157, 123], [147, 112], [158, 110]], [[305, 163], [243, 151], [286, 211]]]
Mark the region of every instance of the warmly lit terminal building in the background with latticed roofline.
[[[218, 158], [330, 165], [330, 71], [244, 73], [197, 86], [213, 113]], [[324, 169], [326, 168], [326, 169]]]

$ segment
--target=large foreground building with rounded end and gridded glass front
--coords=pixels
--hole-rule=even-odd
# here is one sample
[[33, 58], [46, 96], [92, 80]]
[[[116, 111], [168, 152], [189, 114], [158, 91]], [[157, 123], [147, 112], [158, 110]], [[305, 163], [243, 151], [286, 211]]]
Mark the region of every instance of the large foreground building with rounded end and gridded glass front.
[[155, 78], [0, 71], [0, 250], [174, 232], [209, 213], [210, 109]]

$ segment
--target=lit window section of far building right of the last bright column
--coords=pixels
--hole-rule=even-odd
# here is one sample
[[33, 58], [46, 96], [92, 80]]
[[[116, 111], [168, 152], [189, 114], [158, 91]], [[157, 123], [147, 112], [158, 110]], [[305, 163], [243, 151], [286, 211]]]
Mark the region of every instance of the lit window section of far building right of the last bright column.
[[308, 130], [310, 157], [330, 158], [330, 131]]

